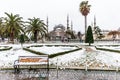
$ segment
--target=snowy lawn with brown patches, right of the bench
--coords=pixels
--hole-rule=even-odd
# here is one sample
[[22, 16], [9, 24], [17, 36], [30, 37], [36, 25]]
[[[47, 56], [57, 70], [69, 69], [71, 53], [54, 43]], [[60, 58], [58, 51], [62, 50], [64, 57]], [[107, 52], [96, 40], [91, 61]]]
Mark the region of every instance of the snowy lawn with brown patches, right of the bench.
[[86, 51], [86, 48], [70, 54], [62, 55], [51, 59], [52, 64], [59, 67], [77, 67], [90, 69], [116, 69], [120, 67], [120, 54], [96, 50], [90, 47], [92, 51]]

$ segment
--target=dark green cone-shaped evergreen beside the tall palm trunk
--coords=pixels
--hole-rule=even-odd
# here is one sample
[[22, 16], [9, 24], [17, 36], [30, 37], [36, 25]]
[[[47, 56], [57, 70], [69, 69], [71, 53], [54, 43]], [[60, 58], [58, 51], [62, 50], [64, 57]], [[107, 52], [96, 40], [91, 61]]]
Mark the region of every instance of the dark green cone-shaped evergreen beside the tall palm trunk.
[[91, 26], [88, 26], [87, 33], [86, 33], [86, 38], [85, 38], [85, 43], [89, 43], [89, 46], [91, 45], [91, 43], [94, 43]]

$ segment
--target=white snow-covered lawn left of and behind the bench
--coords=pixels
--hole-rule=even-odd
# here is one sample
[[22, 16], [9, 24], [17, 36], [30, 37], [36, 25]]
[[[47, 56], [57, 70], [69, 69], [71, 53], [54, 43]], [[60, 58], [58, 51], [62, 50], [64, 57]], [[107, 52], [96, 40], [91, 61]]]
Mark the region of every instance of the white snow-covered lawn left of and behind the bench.
[[7, 51], [0, 51], [0, 68], [11, 68], [13, 67], [14, 61], [19, 56], [36, 56], [36, 54], [24, 51], [21, 45], [9, 45], [13, 48]]

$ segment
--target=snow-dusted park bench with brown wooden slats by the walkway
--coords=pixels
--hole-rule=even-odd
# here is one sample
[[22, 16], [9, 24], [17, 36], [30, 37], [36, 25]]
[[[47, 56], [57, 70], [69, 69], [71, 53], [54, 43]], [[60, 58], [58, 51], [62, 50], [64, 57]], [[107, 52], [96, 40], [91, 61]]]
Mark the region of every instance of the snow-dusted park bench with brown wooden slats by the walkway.
[[49, 58], [48, 55], [40, 56], [19, 56], [18, 60], [14, 62], [15, 72], [19, 72], [22, 69], [40, 69], [46, 68], [49, 70]]

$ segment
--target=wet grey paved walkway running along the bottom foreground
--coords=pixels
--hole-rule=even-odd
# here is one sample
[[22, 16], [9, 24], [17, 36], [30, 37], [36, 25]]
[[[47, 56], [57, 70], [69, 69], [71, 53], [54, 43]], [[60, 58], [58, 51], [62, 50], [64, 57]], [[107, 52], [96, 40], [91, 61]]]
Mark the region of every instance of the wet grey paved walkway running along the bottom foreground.
[[[58, 72], [58, 73], [57, 73]], [[0, 71], [0, 80], [39, 80], [40, 72], [14, 74], [13, 71]], [[120, 72], [116, 71], [84, 71], [50, 69], [49, 80], [120, 80]]]

